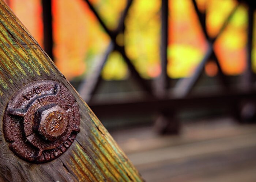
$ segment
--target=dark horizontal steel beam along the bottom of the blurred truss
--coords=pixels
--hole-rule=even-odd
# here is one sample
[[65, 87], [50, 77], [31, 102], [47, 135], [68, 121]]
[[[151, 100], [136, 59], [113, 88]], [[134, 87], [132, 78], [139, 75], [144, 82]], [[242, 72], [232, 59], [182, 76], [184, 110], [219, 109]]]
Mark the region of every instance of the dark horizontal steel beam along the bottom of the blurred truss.
[[146, 98], [135, 100], [133, 98], [112, 100], [111, 102], [90, 103], [90, 108], [97, 115], [109, 115], [115, 111], [116, 114], [147, 114], [157, 113], [161, 110], [183, 110], [184, 108], [214, 108], [219, 106], [231, 107], [242, 99], [256, 101], [256, 92], [229, 92], [223, 94], [201, 94], [186, 96], [184, 98], [154, 99]]

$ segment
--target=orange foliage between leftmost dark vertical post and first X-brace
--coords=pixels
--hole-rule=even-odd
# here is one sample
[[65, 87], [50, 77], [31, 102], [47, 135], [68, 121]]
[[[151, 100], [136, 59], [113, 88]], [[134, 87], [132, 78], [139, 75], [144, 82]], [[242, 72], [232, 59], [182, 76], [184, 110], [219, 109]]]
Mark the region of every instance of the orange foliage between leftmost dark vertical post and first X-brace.
[[108, 37], [101, 32], [94, 14], [83, 0], [52, 2], [54, 58], [60, 71], [72, 79], [86, 71], [85, 60], [92, 48], [106, 48]]

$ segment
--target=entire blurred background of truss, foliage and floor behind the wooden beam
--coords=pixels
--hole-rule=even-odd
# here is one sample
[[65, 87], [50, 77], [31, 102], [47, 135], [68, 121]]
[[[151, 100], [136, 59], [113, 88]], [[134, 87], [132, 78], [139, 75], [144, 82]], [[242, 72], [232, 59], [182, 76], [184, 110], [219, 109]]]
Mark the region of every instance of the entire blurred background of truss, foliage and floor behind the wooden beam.
[[256, 180], [251, 0], [6, 0], [147, 181]]

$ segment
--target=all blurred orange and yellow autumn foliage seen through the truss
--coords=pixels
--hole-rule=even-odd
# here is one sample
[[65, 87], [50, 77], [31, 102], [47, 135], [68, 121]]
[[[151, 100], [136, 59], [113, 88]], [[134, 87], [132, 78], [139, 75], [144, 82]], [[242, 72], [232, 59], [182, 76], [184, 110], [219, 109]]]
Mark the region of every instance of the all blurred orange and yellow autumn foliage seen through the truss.
[[[90, 0], [110, 29], [117, 26], [127, 0]], [[196, 0], [199, 10], [206, 11], [206, 28], [211, 37], [218, 34], [226, 17], [236, 6], [236, 0]], [[86, 74], [105, 52], [110, 38], [99, 25], [84, 0], [52, 0], [54, 59], [57, 67], [69, 79]], [[8, 0], [8, 4], [43, 44], [41, 0]], [[169, 1], [169, 40], [167, 73], [171, 78], [190, 76], [207, 50], [206, 39], [191, 0]], [[161, 72], [159, 47], [161, 0], [134, 0], [125, 20], [124, 34], [116, 37], [136, 69], [144, 78], [154, 78]], [[241, 74], [246, 67], [246, 8], [237, 9], [229, 25], [214, 44], [223, 72]], [[256, 31], [255, 31], [256, 32]], [[254, 34], [256, 35], [256, 33]], [[255, 41], [253, 41], [255, 44]], [[252, 52], [256, 70], [256, 49]], [[216, 65], [205, 67], [208, 75], [216, 74]], [[127, 78], [127, 65], [121, 55], [110, 54], [102, 71], [105, 79]]]

